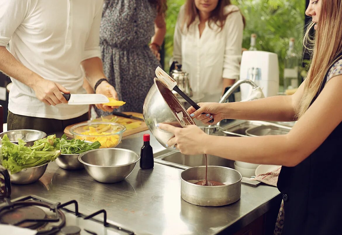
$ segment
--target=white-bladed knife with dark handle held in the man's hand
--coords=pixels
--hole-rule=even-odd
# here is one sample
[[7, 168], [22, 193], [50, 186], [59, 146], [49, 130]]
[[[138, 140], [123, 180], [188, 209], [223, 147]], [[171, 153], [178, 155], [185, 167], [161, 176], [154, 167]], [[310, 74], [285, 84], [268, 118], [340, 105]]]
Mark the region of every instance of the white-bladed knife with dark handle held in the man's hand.
[[102, 94], [62, 94], [68, 104], [103, 104], [108, 103], [109, 99]]

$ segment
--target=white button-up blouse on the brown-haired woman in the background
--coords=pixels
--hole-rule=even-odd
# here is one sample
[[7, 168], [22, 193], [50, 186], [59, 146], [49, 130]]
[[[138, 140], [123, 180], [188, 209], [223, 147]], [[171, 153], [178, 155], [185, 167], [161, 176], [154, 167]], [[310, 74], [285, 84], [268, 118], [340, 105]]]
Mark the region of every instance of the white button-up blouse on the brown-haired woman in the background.
[[[237, 12], [234, 12], [237, 11]], [[223, 79], [238, 79], [242, 54], [242, 36], [244, 25], [242, 15], [236, 5], [225, 7], [229, 13], [223, 29], [206, 22], [201, 37], [199, 36], [198, 16], [189, 26], [181, 26], [184, 18], [184, 6], [181, 7], [173, 38], [173, 61], [182, 64], [182, 70], [189, 73], [190, 86], [195, 92], [206, 94], [218, 102]]]

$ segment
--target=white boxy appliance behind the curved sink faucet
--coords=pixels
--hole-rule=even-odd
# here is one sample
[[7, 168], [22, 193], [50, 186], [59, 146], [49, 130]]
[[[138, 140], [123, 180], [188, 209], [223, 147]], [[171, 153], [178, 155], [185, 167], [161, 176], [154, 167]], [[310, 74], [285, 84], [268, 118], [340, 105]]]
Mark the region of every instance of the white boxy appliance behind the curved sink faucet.
[[[262, 88], [265, 97], [276, 96], [279, 91], [278, 55], [266, 51], [244, 51], [241, 58], [240, 79], [249, 79]], [[241, 100], [247, 100], [252, 87], [241, 84]]]

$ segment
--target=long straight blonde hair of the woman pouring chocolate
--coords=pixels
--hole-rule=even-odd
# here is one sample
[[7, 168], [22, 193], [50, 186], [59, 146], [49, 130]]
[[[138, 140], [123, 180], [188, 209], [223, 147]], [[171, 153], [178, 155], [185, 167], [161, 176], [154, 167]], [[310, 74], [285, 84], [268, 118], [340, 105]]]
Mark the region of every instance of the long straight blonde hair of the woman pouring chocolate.
[[310, 30], [314, 27], [314, 23], [310, 24], [304, 38], [304, 46], [312, 54], [312, 63], [305, 80], [304, 95], [298, 107], [297, 118], [300, 118], [309, 108], [312, 99], [323, 85], [329, 67], [342, 52], [342, 1], [321, 1], [322, 7], [315, 39], [310, 38]]

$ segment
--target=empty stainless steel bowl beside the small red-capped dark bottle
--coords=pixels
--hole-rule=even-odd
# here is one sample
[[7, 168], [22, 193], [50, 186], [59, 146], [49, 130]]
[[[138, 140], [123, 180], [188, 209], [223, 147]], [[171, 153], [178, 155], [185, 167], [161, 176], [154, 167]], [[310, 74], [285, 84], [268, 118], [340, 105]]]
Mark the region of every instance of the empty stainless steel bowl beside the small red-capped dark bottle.
[[133, 170], [140, 156], [120, 148], [94, 149], [80, 154], [78, 160], [94, 180], [101, 183], [123, 181]]

